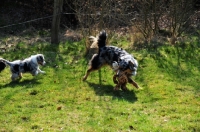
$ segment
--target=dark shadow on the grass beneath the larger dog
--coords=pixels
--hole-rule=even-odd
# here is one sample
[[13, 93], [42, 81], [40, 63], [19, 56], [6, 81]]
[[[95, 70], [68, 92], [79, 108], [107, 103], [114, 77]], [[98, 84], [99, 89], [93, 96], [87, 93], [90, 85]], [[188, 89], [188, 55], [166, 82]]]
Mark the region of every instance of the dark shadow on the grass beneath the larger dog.
[[[86, 81], [87, 82], [87, 81]], [[137, 101], [137, 96], [134, 90], [127, 91], [114, 91], [114, 86], [104, 85], [104, 84], [95, 84], [87, 82], [87, 84], [94, 89], [95, 94], [99, 96], [112, 96], [113, 100], [126, 100], [128, 102], [134, 103]]]

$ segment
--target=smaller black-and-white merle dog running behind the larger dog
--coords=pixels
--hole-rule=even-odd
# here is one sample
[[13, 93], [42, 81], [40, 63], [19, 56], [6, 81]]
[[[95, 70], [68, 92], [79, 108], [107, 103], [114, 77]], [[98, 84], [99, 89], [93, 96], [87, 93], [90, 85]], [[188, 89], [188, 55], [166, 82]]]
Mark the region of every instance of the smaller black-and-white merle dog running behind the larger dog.
[[45, 65], [46, 63], [43, 54], [32, 55], [31, 57], [26, 58], [24, 60], [15, 60], [12, 62], [0, 58], [0, 62], [10, 66], [10, 71], [12, 73], [11, 75], [12, 81], [16, 80], [17, 78], [19, 79], [22, 78], [22, 73], [29, 72], [33, 76], [37, 75], [38, 73], [45, 73], [44, 71], [41, 71], [39, 68], [39, 64]]

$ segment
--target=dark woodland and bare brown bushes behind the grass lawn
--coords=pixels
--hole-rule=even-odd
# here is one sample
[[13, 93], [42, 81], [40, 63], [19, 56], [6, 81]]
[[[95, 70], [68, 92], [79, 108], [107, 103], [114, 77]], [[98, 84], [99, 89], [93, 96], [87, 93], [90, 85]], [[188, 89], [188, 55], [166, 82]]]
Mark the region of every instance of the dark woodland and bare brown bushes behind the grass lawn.
[[[52, 17], [49, 16], [53, 14], [53, 2], [3, 0], [0, 26], [27, 23], [2, 28], [0, 32], [17, 33], [29, 27], [51, 29]], [[60, 27], [81, 30], [83, 36], [102, 29], [109, 29], [109, 36], [115, 31], [134, 29], [131, 30], [133, 36], [140, 32], [148, 42], [159, 36], [176, 40], [183, 33], [200, 27], [199, 10], [197, 0], [63, 0]]]

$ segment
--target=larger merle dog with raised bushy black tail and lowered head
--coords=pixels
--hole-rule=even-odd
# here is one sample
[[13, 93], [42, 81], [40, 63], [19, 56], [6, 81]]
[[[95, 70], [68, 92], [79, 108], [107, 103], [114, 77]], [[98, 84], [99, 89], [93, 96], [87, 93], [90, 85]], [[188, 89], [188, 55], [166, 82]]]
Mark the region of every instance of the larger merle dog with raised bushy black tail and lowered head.
[[[107, 34], [105, 31], [100, 32], [98, 37], [91, 36], [90, 39], [98, 45], [98, 54], [94, 54], [90, 60], [89, 68], [83, 77], [85, 81], [90, 74], [90, 72], [100, 69], [104, 65], [109, 65], [112, 67], [113, 62], [117, 62], [119, 65], [119, 70], [125, 71], [130, 69], [130, 73], [127, 74], [128, 83], [132, 84], [136, 88], [139, 88], [137, 83], [131, 79], [132, 75], [136, 75], [138, 62], [134, 57], [123, 50], [115, 46], [106, 46]], [[114, 83], [118, 84], [116, 77], [113, 77]]]

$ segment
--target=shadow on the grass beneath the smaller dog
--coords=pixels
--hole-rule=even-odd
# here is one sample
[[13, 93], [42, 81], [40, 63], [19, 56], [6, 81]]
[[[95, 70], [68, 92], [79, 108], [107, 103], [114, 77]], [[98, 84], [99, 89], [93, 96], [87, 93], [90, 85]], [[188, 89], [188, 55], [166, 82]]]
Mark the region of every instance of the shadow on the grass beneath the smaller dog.
[[1, 88], [7, 88], [7, 87], [15, 88], [15, 87], [19, 87], [19, 86], [24, 87], [24, 88], [32, 88], [37, 84], [40, 84], [40, 82], [36, 78], [22, 79], [22, 80], [10, 81], [9, 83], [3, 85]]

